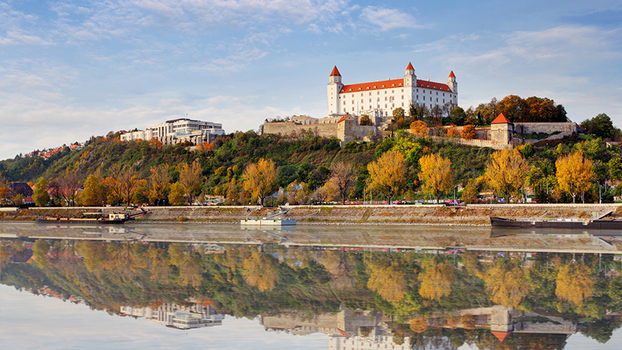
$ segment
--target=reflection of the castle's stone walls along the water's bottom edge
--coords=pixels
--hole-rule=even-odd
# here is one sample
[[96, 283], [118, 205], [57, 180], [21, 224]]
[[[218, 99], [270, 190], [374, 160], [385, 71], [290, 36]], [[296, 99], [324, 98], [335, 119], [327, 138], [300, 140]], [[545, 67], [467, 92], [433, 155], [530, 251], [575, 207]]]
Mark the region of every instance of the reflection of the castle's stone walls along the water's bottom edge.
[[[463, 316], [469, 316], [464, 318]], [[463, 324], [462, 320], [471, 320]], [[395, 344], [394, 330], [387, 323], [391, 318], [373, 311], [352, 311], [341, 309], [336, 314], [299, 316], [281, 314], [263, 316], [265, 329], [286, 329], [293, 335], [308, 335], [322, 332], [329, 335], [329, 350], [366, 349], [410, 349], [409, 337], [403, 337], [403, 344]], [[581, 324], [568, 321], [560, 316], [530, 312], [523, 313], [512, 307], [478, 307], [443, 314], [433, 314], [427, 318], [429, 328], [490, 328], [499, 342], [516, 333], [517, 335], [565, 335], [575, 334]]]

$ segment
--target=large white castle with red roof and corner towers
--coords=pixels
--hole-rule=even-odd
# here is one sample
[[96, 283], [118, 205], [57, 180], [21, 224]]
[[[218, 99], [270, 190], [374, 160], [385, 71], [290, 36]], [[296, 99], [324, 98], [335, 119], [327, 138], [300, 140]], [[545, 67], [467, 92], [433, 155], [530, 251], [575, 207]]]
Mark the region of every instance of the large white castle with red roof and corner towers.
[[343, 85], [337, 66], [333, 68], [328, 84], [329, 116], [346, 114], [368, 114], [370, 116], [392, 116], [393, 110], [403, 108], [409, 113], [409, 106], [426, 106], [428, 109], [440, 105], [458, 105], [458, 83], [453, 71], [448, 83], [434, 83], [417, 79], [413, 64], [408, 63], [403, 79], [382, 80], [373, 83]]

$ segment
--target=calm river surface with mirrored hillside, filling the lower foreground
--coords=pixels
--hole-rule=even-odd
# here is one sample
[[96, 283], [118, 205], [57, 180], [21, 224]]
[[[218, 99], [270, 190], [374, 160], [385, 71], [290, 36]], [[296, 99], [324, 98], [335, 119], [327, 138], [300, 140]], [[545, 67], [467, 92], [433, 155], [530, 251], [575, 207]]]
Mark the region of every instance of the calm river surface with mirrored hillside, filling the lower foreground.
[[615, 238], [502, 233], [0, 224], [0, 345], [621, 348]]

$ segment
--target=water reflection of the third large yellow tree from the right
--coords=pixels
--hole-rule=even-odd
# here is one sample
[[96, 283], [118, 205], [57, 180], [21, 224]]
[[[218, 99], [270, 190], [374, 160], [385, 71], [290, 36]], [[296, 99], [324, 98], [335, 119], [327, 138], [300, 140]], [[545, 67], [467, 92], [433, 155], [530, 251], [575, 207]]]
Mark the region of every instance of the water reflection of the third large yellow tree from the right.
[[438, 255], [424, 260], [423, 271], [417, 276], [421, 282], [419, 294], [430, 300], [438, 300], [450, 295], [453, 281], [453, 267], [450, 262], [442, 262]]

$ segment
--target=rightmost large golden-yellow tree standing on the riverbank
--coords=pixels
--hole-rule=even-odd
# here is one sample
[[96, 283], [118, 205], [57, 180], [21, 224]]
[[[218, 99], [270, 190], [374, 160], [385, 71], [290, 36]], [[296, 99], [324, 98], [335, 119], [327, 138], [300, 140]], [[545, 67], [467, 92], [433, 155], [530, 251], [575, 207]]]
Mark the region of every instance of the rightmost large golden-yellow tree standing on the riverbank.
[[590, 189], [594, 179], [592, 161], [583, 158], [583, 151], [575, 151], [558, 158], [555, 167], [560, 189], [572, 196], [573, 203], [576, 202], [576, 195]]

